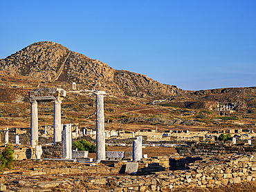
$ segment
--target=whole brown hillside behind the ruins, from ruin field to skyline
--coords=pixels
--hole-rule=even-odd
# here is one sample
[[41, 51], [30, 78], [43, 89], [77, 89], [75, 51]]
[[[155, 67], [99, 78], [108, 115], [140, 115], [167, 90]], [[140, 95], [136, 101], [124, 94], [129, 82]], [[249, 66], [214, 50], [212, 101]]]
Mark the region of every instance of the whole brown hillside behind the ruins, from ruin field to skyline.
[[[77, 89], [73, 90], [75, 82]], [[1, 128], [29, 127], [34, 88], [64, 88], [62, 123], [95, 128], [95, 96], [105, 90], [106, 129], [216, 130], [256, 127], [256, 88], [182, 90], [146, 75], [42, 41], [0, 59]], [[51, 103], [39, 103], [39, 125], [53, 124]]]

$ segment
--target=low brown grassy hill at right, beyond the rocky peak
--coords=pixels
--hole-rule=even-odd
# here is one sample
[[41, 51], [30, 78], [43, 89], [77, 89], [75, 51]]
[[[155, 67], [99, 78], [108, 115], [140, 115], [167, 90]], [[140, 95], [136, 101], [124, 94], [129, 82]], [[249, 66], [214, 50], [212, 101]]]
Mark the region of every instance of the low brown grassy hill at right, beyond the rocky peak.
[[190, 91], [177, 95], [171, 103], [191, 109], [217, 109], [218, 105], [229, 104], [239, 113], [253, 115], [256, 114], [256, 87]]

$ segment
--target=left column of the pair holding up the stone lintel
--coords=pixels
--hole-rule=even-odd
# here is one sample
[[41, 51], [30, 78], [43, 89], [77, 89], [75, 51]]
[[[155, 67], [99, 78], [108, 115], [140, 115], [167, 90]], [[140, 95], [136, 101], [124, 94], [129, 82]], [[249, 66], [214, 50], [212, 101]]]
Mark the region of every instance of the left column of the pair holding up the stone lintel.
[[38, 145], [38, 114], [37, 101], [31, 99], [31, 115], [30, 115], [30, 145], [32, 148]]

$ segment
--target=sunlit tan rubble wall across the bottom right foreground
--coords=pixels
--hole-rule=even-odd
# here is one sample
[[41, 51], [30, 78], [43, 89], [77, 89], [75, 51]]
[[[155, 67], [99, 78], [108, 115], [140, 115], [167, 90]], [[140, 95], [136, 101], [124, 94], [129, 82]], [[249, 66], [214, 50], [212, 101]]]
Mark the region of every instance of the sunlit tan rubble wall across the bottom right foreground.
[[154, 175], [126, 177], [122, 180], [111, 177], [111, 181], [108, 181], [107, 177], [100, 177], [98, 180], [86, 180], [86, 184], [100, 184], [100, 181], [104, 181], [104, 185], [114, 184], [115, 191], [168, 191], [184, 186], [207, 188], [250, 182], [255, 179], [256, 156], [246, 156], [218, 161], [218, 164], [196, 166], [194, 169], [185, 171], [163, 171]]

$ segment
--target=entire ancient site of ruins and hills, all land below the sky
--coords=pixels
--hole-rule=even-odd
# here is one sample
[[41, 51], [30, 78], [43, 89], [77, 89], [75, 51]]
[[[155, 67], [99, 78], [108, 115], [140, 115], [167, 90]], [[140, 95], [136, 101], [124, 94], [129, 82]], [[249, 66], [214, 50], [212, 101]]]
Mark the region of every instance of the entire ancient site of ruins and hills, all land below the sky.
[[0, 191], [256, 191], [255, 104], [31, 44], [0, 59]]

